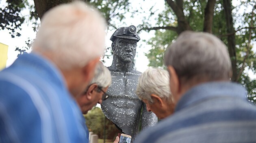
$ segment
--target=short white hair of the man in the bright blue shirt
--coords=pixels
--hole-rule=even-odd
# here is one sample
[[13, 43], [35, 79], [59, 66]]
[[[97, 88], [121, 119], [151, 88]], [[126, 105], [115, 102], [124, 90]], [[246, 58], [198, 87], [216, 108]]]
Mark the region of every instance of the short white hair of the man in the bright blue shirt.
[[61, 69], [84, 66], [105, 48], [106, 21], [85, 2], [61, 4], [46, 12], [33, 51], [48, 53]]

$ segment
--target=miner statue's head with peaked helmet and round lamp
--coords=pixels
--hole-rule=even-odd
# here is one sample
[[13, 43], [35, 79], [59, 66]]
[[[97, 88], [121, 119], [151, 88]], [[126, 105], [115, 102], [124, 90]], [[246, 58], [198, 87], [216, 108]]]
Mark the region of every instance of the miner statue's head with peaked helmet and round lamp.
[[110, 40], [112, 43], [112, 50], [114, 57], [124, 63], [130, 63], [136, 55], [137, 42], [140, 40], [136, 32], [136, 27], [130, 25], [129, 27], [118, 28]]

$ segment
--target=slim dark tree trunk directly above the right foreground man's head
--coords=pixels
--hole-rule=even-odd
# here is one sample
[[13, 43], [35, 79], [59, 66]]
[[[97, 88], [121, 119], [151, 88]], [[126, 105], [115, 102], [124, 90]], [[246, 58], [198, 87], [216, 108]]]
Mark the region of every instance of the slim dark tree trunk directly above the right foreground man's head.
[[208, 0], [204, 10], [204, 32], [213, 33], [213, 12], [216, 0]]

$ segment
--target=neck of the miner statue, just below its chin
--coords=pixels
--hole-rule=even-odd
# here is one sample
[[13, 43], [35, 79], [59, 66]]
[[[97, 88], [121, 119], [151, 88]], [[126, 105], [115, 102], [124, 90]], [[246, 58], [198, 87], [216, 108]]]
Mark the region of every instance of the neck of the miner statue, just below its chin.
[[115, 71], [120, 71], [126, 73], [128, 71], [134, 71], [134, 64], [133, 62], [123, 62], [116, 57], [113, 57], [113, 63], [111, 65], [111, 69]]

